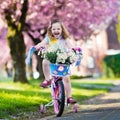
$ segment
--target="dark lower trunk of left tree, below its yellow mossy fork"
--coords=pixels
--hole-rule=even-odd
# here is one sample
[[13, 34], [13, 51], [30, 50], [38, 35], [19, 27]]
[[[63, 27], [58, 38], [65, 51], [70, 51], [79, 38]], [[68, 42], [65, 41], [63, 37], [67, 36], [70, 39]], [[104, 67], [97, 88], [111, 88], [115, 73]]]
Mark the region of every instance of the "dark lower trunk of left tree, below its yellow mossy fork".
[[22, 33], [8, 38], [14, 66], [14, 82], [28, 83], [25, 70], [25, 44]]

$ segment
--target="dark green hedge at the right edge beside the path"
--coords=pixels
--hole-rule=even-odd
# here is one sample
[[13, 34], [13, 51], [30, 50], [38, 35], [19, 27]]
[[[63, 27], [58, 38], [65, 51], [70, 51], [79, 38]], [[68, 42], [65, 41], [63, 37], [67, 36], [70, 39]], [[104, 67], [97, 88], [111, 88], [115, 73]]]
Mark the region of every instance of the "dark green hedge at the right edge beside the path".
[[120, 77], [120, 54], [108, 55], [103, 59], [103, 76], [108, 78]]

